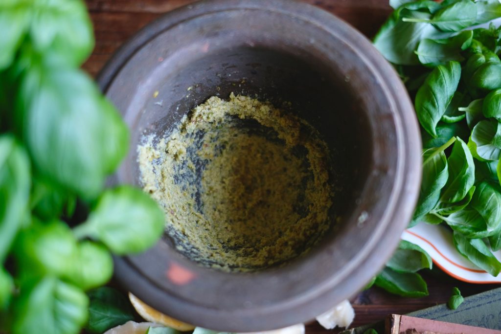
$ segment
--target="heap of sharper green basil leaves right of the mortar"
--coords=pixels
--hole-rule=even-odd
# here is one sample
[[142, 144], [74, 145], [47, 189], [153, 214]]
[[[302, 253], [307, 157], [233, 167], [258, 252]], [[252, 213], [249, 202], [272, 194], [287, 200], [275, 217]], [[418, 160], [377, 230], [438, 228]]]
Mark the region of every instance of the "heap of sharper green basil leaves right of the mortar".
[[[423, 179], [411, 226], [453, 230], [455, 247], [496, 276], [501, 263], [501, 17], [498, 0], [390, 0], [374, 38], [421, 124]], [[473, 27], [474, 28], [474, 27]]]

